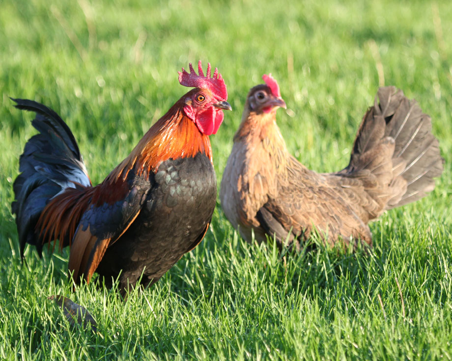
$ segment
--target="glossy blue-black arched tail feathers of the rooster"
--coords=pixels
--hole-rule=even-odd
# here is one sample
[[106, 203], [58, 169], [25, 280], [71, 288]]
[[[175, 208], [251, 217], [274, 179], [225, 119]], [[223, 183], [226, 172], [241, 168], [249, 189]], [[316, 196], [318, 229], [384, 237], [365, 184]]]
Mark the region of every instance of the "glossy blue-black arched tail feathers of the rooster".
[[[41, 231], [36, 229], [36, 224], [49, 200], [63, 193], [66, 188], [89, 188], [91, 181], [74, 135], [59, 115], [37, 102], [26, 99], [14, 101], [17, 108], [36, 113], [31, 124], [39, 131], [25, 145], [19, 162], [21, 174], [13, 186], [16, 200], [11, 207], [17, 215], [20, 252], [23, 257], [26, 243], [35, 245], [41, 254], [43, 242], [42, 238], [37, 237]], [[58, 204], [58, 211], [65, 211], [69, 200], [65, 199], [64, 202]], [[75, 204], [76, 201], [69, 203]], [[62, 216], [62, 213], [55, 213], [52, 220]], [[69, 240], [63, 238], [60, 242], [68, 244]]]

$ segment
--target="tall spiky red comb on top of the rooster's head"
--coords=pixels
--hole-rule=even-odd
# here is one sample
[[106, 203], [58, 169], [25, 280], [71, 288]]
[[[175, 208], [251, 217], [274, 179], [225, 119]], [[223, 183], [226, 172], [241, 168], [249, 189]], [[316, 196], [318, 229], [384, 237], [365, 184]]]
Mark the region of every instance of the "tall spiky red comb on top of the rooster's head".
[[202, 71], [201, 60], [198, 61], [198, 74], [196, 74], [193, 69], [192, 63], [190, 63], [190, 73], [182, 68], [179, 73], [179, 83], [183, 86], [193, 87], [193, 88], [203, 88], [209, 89], [218, 98], [223, 101], [227, 100], [227, 90], [226, 84], [221, 74], [218, 73], [218, 69], [215, 68], [213, 77], [210, 77], [211, 66], [210, 63], [207, 65], [207, 74], [204, 77], [204, 72]]

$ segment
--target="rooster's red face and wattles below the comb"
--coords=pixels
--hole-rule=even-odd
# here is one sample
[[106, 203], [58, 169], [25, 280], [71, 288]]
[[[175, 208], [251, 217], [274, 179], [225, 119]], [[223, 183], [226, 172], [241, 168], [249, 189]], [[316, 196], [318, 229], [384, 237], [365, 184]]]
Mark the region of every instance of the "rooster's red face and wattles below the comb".
[[210, 91], [198, 89], [185, 99], [184, 111], [201, 133], [216, 134], [225, 116], [223, 109], [227, 109], [221, 102]]

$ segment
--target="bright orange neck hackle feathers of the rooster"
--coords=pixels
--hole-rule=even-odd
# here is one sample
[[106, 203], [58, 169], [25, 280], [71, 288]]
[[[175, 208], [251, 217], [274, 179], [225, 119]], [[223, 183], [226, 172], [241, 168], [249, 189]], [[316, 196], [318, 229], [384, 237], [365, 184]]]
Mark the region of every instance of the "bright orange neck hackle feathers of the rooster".
[[195, 123], [185, 115], [184, 102], [179, 100], [155, 123], [138, 145], [107, 177], [114, 182], [125, 179], [131, 170], [137, 174], [157, 171], [159, 165], [168, 159], [194, 157], [203, 153], [212, 162], [212, 148], [209, 137], [202, 134]]

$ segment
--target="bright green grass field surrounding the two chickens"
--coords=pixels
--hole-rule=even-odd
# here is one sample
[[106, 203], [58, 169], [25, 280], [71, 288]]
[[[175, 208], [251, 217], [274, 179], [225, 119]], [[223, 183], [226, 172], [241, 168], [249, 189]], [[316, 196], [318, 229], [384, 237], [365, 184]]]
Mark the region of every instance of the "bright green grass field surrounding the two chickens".
[[[422, 201], [371, 225], [374, 248], [283, 257], [249, 245], [215, 210], [204, 241], [156, 285], [121, 301], [95, 282], [75, 292], [68, 253], [21, 264], [12, 182], [32, 114], [54, 108], [93, 183], [183, 95], [177, 71], [210, 61], [232, 112], [211, 137], [221, 179], [245, 96], [272, 73], [291, 152], [344, 167], [379, 84], [432, 117], [445, 170]], [[0, 360], [451, 360], [452, 7], [440, 1], [2, 1], [0, 10]], [[98, 332], [70, 327], [63, 294]]]

